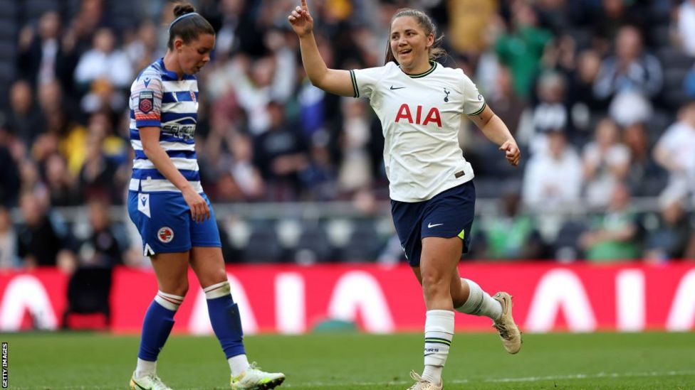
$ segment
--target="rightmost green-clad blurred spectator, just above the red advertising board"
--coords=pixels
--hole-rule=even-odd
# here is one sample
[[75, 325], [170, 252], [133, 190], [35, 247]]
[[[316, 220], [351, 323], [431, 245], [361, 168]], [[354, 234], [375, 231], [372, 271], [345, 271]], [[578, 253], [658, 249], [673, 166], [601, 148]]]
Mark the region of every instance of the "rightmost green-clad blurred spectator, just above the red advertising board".
[[629, 209], [630, 193], [625, 185], [616, 185], [604, 213], [591, 218], [590, 227], [580, 237], [585, 259], [593, 262], [637, 259], [637, 216]]

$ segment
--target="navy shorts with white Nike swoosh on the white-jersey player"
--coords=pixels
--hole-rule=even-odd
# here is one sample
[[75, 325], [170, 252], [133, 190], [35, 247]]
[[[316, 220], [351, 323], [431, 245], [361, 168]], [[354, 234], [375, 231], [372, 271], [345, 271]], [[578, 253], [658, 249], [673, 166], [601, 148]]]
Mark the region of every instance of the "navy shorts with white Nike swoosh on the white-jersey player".
[[401, 247], [410, 266], [420, 265], [424, 237], [461, 237], [463, 252], [471, 244], [476, 209], [473, 180], [439, 193], [423, 202], [391, 201], [391, 215]]

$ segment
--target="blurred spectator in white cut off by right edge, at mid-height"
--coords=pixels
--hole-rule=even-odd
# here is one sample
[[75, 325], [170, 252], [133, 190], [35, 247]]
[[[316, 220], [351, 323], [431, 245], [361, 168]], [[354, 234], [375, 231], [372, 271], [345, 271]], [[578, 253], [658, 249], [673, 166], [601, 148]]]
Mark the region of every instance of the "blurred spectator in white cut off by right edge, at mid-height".
[[654, 147], [654, 160], [669, 173], [665, 191], [685, 195], [695, 191], [695, 102], [681, 107]]

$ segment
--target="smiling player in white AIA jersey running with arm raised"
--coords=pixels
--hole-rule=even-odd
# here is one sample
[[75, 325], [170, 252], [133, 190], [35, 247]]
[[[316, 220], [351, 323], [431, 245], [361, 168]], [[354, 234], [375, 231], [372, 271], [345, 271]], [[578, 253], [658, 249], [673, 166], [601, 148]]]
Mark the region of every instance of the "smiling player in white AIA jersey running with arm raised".
[[491, 318], [507, 352], [518, 352], [521, 332], [512, 318], [511, 296], [489, 296], [474, 281], [460, 278], [457, 268], [469, 248], [475, 208], [473, 169], [459, 148], [461, 117], [474, 121], [517, 166], [521, 153], [506, 125], [462, 70], [434, 62], [443, 53], [437, 48], [441, 37], [422, 11], [401, 9], [393, 16], [384, 66], [350, 71], [326, 67], [305, 0], [288, 20], [313, 85], [367, 97], [382, 122], [393, 221], [427, 306], [424, 371], [411, 372], [416, 383], [409, 389], [443, 387], [454, 310]]

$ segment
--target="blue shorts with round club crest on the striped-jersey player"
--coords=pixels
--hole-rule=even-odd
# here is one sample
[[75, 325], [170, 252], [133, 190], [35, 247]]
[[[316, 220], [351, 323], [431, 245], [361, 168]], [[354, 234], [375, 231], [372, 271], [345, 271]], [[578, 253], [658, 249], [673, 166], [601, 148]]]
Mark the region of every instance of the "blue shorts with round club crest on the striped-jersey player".
[[195, 222], [180, 193], [128, 191], [128, 215], [142, 237], [144, 256], [222, 246], [210, 200], [201, 196], [210, 207], [210, 218]]

